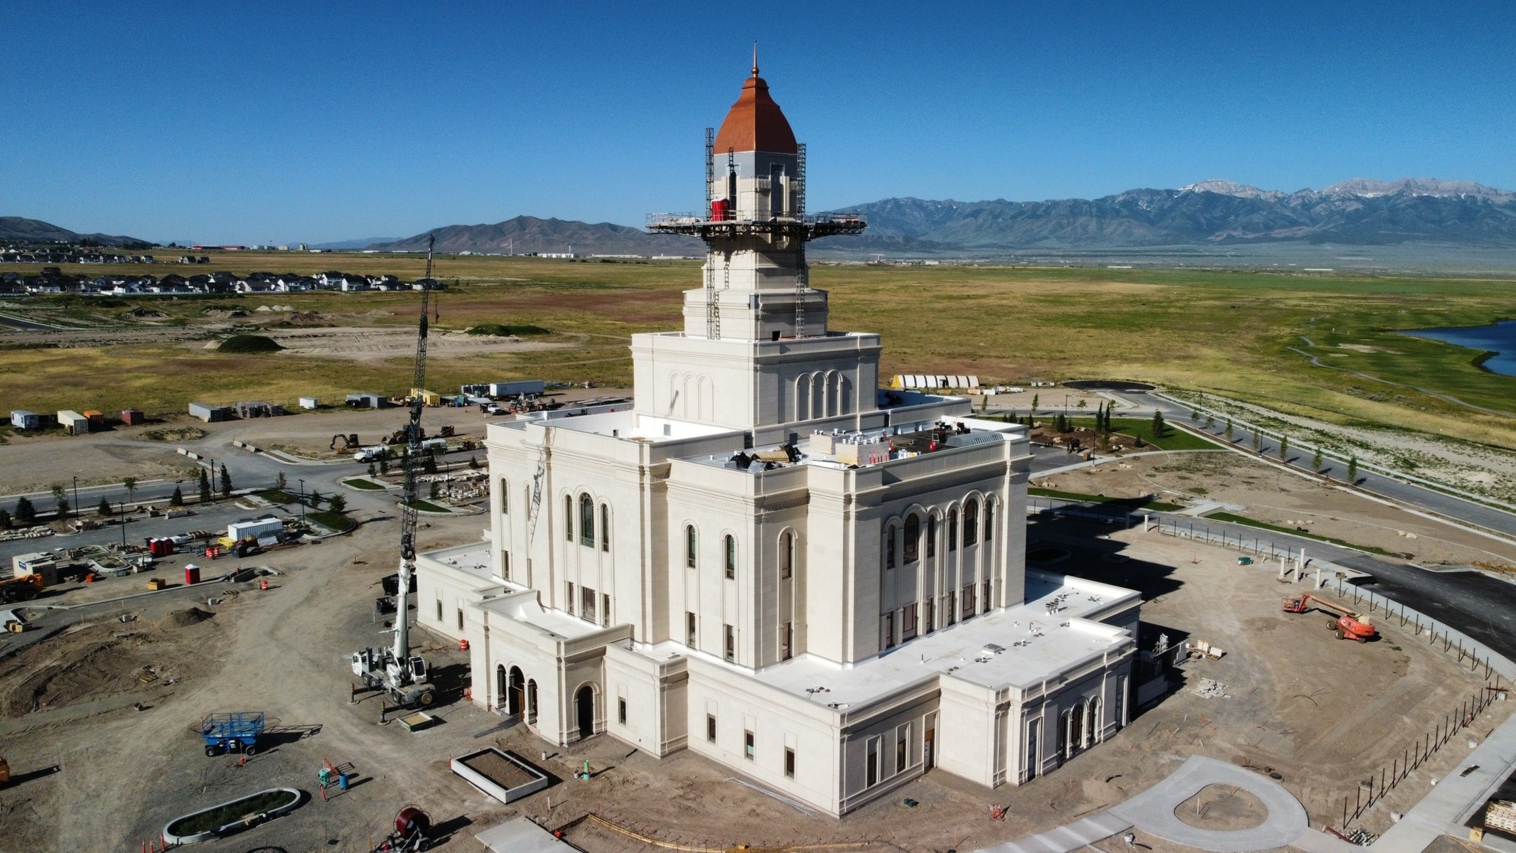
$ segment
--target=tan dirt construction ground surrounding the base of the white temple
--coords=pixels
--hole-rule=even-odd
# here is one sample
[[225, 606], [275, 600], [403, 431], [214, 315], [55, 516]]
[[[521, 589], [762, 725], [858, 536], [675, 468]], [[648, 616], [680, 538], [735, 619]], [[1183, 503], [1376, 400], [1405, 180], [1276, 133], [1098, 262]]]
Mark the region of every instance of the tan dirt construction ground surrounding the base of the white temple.
[[[473, 541], [478, 521], [446, 520], [423, 530], [421, 547]], [[106, 618], [49, 638], [0, 670], [0, 689], [20, 691], [0, 718], [0, 744], [20, 783], [0, 791], [0, 838], [17, 850], [124, 850], [156, 835], [194, 808], [274, 785], [314, 797], [294, 814], [249, 833], [206, 844], [241, 851], [259, 844], [288, 850], [367, 850], [406, 803], [417, 803], [456, 833], [447, 848], [473, 848], [470, 835], [497, 820], [526, 814], [590, 853], [653, 850], [591, 820], [682, 844], [767, 845], [857, 842], [860, 848], [972, 850], [1076, 820], [1152, 785], [1192, 753], [1272, 768], [1305, 803], [1311, 823], [1340, 823], [1342, 797], [1401, 755], [1424, 730], [1483, 680], [1396, 624], [1370, 644], [1337, 641], [1320, 614], [1280, 612], [1273, 573], [1239, 568], [1234, 555], [1155, 533], [1110, 533], [1066, 521], [1038, 521], [1032, 536], [1067, 547], [1058, 568], [1145, 592], [1143, 618], [1173, 639], [1208, 639], [1226, 648], [1220, 661], [1184, 667], [1176, 691], [1137, 717], [1110, 742], [1020, 788], [984, 789], [937, 771], [881, 801], [837, 820], [810, 814], [735, 779], [690, 753], [658, 761], [608, 736], [559, 750], [523, 727], [461, 700], [464, 655], [417, 633], [443, 688], [424, 732], [379, 726], [379, 705], [349, 703], [347, 653], [384, 642], [371, 611], [377, 580], [393, 571], [396, 524], [379, 521], [317, 545], [268, 555], [287, 571], [273, 589], [247, 585], [211, 618], [173, 617], [183, 597], [155, 603], [130, 624]], [[1126, 562], [1101, 555], [1120, 551]], [[1192, 562], [1192, 559], [1198, 562]], [[124, 635], [124, 636], [117, 636]], [[112, 645], [114, 644], [114, 645]], [[155, 680], [135, 673], [153, 667]], [[94, 671], [91, 671], [91, 668]], [[41, 676], [38, 676], [41, 673]], [[1226, 685], [1228, 698], [1193, 692], [1201, 677]], [[168, 683], [173, 680], [173, 683]], [[26, 703], [30, 691], [33, 701]], [[135, 711], [132, 701], [146, 709]], [[211, 711], [268, 714], [270, 748], [243, 765], [206, 758], [193, 726]], [[1477, 736], [1508, 711], [1492, 706]], [[529, 759], [546, 751], [558, 782], [502, 806], [447, 770], [447, 758], [497, 744]], [[1383, 832], [1390, 808], [1402, 809], [1463, 755], [1455, 741], [1413, 774], [1364, 826]], [[356, 785], [323, 798], [315, 773], [330, 761], [352, 767]], [[573, 770], [590, 761], [593, 779]], [[50, 773], [49, 768], [58, 768]], [[1202, 792], [1196, 820], [1243, 826], [1257, 811], [1248, 797]], [[916, 806], [904, 801], [914, 800]], [[1005, 821], [990, 821], [993, 803]], [[1196, 803], [1181, 806], [1196, 809]], [[1142, 838], [1158, 853], [1178, 853]], [[1119, 841], [1102, 850], [1119, 853]]]

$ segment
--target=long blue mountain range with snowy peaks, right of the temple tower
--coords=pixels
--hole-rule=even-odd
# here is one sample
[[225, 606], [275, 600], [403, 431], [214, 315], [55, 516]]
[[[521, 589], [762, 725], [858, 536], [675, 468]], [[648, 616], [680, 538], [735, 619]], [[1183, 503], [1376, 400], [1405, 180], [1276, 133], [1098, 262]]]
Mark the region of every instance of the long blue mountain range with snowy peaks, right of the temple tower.
[[993, 253], [1290, 241], [1516, 247], [1516, 192], [1467, 180], [1355, 179], [1298, 192], [1204, 180], [1093, 200], [885, 198], [847, 209], [864, 214], [869, 230], [817, 241], [819, 250]]

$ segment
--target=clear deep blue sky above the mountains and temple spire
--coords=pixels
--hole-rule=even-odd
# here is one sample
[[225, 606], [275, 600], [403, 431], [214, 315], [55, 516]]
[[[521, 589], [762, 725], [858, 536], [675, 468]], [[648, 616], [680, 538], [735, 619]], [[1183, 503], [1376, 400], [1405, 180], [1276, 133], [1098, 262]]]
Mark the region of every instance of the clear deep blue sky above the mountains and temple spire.
[[703, 127], [755, 38], [813, 209], [1208, 177], [1516, 188], [1508, 2], [9, 0], [3, 18], [0, 215], [149, 239], [693, 209]]

